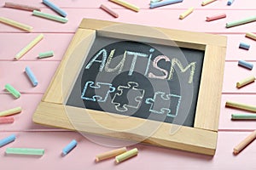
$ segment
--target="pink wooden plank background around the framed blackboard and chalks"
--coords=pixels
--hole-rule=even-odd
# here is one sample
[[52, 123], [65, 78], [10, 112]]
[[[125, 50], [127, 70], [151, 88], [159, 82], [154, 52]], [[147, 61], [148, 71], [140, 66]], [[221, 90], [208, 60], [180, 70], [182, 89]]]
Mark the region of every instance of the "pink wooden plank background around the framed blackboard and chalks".
[[[256, 83], [241, 89], [236, 88], [236, 82], [255, 75], [256, 71], [248, 71], [237, 66], [239, 59], [245, 59], [256, 64], [255, 41], [245, 37], [247, 31], [255, 31], [255, 23], [244, 26], [225, 28], [225, 23], [255, 15], [256, 3], [252, 0], [235, 0], [227, 6], [227, 0], [218, 0], [207, 6], [201, 6], [201, 0], [183, 0], [162, 8], [149, 9], [149, 0], [127, 0], [141, 8], [138, 13], [122, 8], [107, 0], [52, 0], [67, 12], [67, 24], [44, 20], [32, 16], [31, 12], [2, 8], [5, 1], [0, 0], [0, 16], [18, 20], [33, 26], [32, 33], [25, 33], [0, 23], [0, 111], [21, 106], [23, 111], [15, 116], [15, 123], [0, 125], [0, 139], [15, 133], [14, 143], [0, 148], [0, 166], [3, 169], [256, 169], [256, 142], [250, 144], [238, 156], [232, 154], [233, 147], [244, 139], [255, 128], [255, 121], [231, 121], [232, 113], [236, 111], [225, 108], [226, 100], [235, 100], [256, 105]], [[12, 2], [21, 3], [19, 0]], [[23, 0], [22, 3], [32, 4], [42, 8], [44, 12], [55, 14], [39, 0]], [[115, 9], [119, 18], [102, 11], [99, 6], [104, 3]], [[195, 7], [193, 14], [184, 20], [178, 20], [178, 15], [189, 7]], [[227, 18], [206, 22], [207, 15], [226, 13]], [[54, 127], [44, 127], [32, 122], [32, 114], [53, 77], [63, 54], [71, 41], [74, 32], [83, 18], [113, 20], [134, 23], [145, 26], [160, 26], [171, 29], [202, 31], [220, 34], [228, 37], [226, 63], [224, 69], [224, 87], [220, 121], [218, 126], [218, 147], [216, 155], [201, 156], [179, 150], [169, 150], [145, 144], [136, 144], [138, 156], [115, 165], [113, 160], [95, 163], [96, 154], [112, 150], [106, 146], [95, 144], [76, 132], [69, 132]], [[44, 33], [44, 39], [19, 61], [14, 61], [15, 54], [38, 33]], [[251, 44], [251, 48], [238, 48], [239, 42]], [[54, 50], [55, 56], [49, 59], [37, 59], [38, 53]], [[24, 70], [26, 65], [32, 68], [39, 85], [32, 88]], [[21, 92], [20, 99], [14, 99], [4, 91], [6, 83], [13, 84]], [[218, 82], [217, 82], [218, 83]], [[79, 141], [78, 146], [67, 156], [61, 157], [62, 148], [72, 139]], [[6, 147], [44, 148], [45, 154], [37, 156], [6, 156]]]

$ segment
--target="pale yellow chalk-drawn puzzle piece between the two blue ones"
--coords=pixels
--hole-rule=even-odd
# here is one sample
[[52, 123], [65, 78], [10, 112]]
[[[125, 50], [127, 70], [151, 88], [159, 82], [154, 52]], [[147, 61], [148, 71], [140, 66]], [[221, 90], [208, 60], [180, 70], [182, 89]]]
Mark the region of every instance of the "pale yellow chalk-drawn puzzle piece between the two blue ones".
[[141, 105], [144, 90], [139, 89], [137, 82], [127, 82], [127, 86], [119, 86], [112, 103], [117, 111], [128, 111], [128, 108], [138, 109]]

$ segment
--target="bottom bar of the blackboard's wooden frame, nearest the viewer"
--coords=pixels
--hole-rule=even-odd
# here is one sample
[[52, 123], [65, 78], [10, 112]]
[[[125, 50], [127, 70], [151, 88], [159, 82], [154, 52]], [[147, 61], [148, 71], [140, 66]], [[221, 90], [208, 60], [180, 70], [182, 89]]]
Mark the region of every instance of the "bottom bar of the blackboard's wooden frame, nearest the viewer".
[[[170, 123], [159, 123], [131, 116], [117, 116], [102, 111], [85, 111], [81, 108], [47, 102], [39, 104], [33, 116], [33, 122], [119, 139], [138, 140], [211, 156], [215, 153], [217, 142], [217, 133], [212, 131], [178, 126], [177, 131], [170, 134], [171, 129], [174, 128]], [[147, 127], [157, 127], [153, 135], [145, 136], [147, 131], [143, 129], [147, 128], [143, 127], [144, 123], [147, 123]]]

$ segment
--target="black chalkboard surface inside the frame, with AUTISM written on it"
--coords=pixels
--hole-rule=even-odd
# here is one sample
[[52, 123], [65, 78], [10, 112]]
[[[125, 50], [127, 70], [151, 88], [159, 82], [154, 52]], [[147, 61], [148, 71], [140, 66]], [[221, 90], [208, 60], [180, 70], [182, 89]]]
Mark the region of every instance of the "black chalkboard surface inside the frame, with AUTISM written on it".
[[204, 54], [96, 37], [66, 105], [193, 127]]

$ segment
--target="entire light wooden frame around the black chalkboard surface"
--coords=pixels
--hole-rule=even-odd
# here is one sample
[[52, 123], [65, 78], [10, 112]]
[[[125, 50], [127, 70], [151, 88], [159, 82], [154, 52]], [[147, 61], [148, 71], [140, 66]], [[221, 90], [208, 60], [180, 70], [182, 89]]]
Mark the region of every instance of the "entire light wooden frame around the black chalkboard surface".
[[[160, 127], [150, 137], [144, 139], [143, 142], [213, 156], [218, 137], [218, 117], [224, 75], [226, 37], [154, 27], [154, 30], [163, 32], [166, 35], [165, 37], [159, 37], [154, 35], [153, 32], [142, 31], [136, 25], [123, 24], [122, 29], [119, 29], [119, 25], [120, 23], [103, 20], [82, 20], [78, 31], [67, 48], [61, 65], [59, 65], [58, 70], [55, 72], [55, 77], [50, 82], [49, 88], [33, 115], [33, 122], [87, 133], [103, 134], [121, 139], [142, 139], [144, 136], [142, 132], [124, 133], [122, 130], [145, 121], [153, 124], [154, 121], [131, 116], [126, 116], [125, 119], [122, 119], [122, 116], [112, 116], [111, 113], [107, 114], [102, 111], [86, 110], [88, 116], [93, 117], [103, 127], [108, 127], [108, 130], [102, 133], [102, 129], [97, 129], [91, 122], [87, 122], [86, 125], [80, 126], [79, 129], [76, 127], [75, 129], [65, 111], [67, 108], [72, 108], [72, 106], [63, 105], [63, 103], [67, 100], [73, 87], [73, 80], [76, 80], [82, 66], [81, 63], [84, 63], [84, 54], [87, 56], [96, 38], [96, 34], [104, 37], [119, 37], [128, 40], [136, 40], [138, 37], [143, 37], [144, 42], [158, 44], [168, 44], [168, 41], [172, 39], [179, 47], [205, 50], [194, 127], [181, 126], [177, 133], [169, 135], [170, 128], [177, 125], [161, 122]], [[131, 29], [135, 27], [137, 29]], [[79, 48], [79, 43], [84, 38], [86, 41], [80, 44], [81, 46], [83, 45], [83, 48], [74, 51], [75, 48]], [[73, 53], [75, 53], [76, 59], [73, 59]], [[68, 73], [66, 72], [64, 75], [65, 68], [69, 65], [73, 65], [75, 69], [68, 71]], [[65, 82], [67, 86], [62, 87], [64, 76], [68, 77], [70, 81]], [[77, 114], [73, 121], [77, 120], [79, 122], [78, 113], [83, 112], [84, 109], [75, 107], [72, 109]]]

